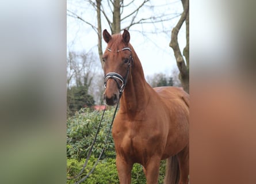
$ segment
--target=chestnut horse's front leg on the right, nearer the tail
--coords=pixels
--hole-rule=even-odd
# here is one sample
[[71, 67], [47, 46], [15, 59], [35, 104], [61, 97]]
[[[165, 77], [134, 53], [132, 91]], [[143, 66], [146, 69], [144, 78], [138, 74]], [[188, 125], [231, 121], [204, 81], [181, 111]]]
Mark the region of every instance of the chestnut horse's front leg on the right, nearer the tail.
[[160, 162], [160, 158], [151, 158], [150, 160], [148, 160], [147, 165], [144, 167], [147, 184], [158, 183]]

